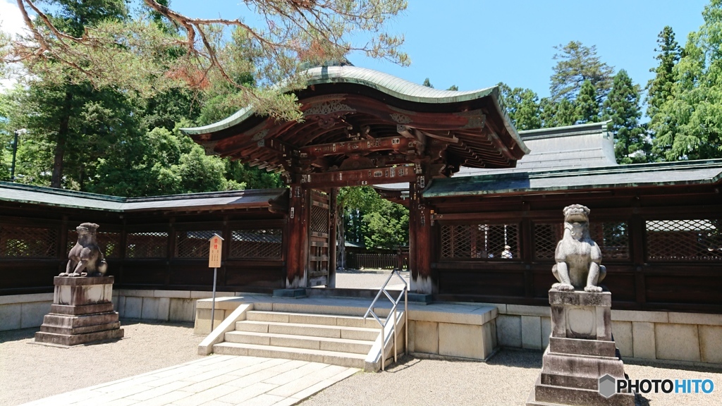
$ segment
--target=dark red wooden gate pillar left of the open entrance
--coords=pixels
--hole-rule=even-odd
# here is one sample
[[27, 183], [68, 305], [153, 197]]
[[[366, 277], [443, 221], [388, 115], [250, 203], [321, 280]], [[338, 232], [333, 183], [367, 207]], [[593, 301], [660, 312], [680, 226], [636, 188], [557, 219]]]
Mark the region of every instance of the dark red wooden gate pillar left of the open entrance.
[[308, 280], [308, 212], [310, 190], [302, 183], [291, 185], [286, 245], [286, 288], [305, 288]]

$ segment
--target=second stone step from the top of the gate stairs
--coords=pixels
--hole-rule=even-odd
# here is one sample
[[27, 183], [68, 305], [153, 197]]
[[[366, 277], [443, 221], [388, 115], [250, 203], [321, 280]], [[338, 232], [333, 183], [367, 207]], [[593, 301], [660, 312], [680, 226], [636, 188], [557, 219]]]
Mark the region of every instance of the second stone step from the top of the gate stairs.
[[363, 327], [324, 326], [321, 324], [284, 323], [277, 321], [237, 321], [239, 332], [305, 335], [310, 337], [344, 338], [347, 340], [375, 341], [380, 329]]

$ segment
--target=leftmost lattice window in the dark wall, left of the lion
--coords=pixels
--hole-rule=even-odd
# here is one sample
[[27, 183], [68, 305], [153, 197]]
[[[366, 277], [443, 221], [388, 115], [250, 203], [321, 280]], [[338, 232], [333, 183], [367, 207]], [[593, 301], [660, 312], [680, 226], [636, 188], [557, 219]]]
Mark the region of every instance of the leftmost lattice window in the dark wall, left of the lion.
[[0, 226], [0, 257], [54, 258], [57, 236], [51, 228]]

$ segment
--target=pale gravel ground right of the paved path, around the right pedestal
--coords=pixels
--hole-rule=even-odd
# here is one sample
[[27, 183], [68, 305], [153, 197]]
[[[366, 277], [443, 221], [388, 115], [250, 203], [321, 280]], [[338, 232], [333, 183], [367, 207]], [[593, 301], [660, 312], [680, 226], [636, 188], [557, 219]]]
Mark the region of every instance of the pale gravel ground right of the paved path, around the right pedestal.
[[[487, 363], [408, 358], [386, 373], [357, 373], [300, 405], [525, 405], [541, 352], [502, 350]], [[642, 405], [722, 405], [722, 371], [625, 365], [630, 379], [712, 379], [712, 394], [645, 394]]]

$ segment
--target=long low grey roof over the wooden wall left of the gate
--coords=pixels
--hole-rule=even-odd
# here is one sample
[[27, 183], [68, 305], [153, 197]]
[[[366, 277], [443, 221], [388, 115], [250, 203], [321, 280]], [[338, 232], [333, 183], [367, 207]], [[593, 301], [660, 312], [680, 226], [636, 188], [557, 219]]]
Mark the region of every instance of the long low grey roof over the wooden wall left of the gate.
[[249, 189], [168, 196], [120, 197], [82, 191], [0, 182], [0, 201], [43, 204], [73, 209], [108, 212], [144, 212], [153, 210], [204, 210], [215, 207], [245, 209], [271, 207], [287, 189]]

